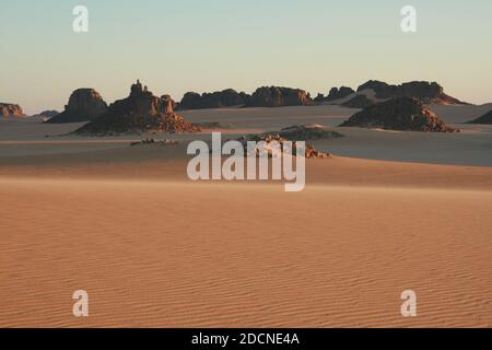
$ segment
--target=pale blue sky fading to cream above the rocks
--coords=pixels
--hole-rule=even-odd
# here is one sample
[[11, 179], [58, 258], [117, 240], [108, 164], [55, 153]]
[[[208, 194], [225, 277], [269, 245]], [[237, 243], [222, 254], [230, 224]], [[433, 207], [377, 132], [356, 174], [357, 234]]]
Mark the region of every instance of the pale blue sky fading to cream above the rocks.
[[[90, 33], [72, 31], [72, 9]], [[418, 10], [418, 33], [400, 9]], [[356, 88], [368, 79], [430, 80], [492, 102], [490, 0], [2, 0], [0, 101], [61, 109], [74, 89], [107, 102], [137, 78], [155, 94], [260, 85]]]

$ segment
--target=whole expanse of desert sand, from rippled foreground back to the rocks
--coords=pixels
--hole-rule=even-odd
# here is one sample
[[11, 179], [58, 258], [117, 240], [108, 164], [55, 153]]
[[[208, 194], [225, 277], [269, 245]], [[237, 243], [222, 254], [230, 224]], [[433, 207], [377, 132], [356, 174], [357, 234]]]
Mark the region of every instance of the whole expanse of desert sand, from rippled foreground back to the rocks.
[[[186, 141], [210, 130], [130, 148], [147, 136], [0, 120], [0, 327], [492, 327], [492, 128], [461, 125], [488, 106], [433, 108], [462, 132], [335, 128], [297, 194], [188, 180]], [[237, 136], [353, 112], [183, 115]]]

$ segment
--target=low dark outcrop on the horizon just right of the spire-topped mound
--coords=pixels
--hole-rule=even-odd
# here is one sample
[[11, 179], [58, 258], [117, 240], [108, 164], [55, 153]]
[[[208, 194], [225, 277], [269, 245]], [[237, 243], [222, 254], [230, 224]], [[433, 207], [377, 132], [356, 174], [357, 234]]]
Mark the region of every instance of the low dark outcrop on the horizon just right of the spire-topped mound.
[[244, 106], [249, 102], [250, 96], [244, 92], [238, 93], [233, 89], [218, 91], [213, 93], [188, 92], [183, 96], [178, 109], [202, 109], [202, 108], [224, 108], [232, 106]]

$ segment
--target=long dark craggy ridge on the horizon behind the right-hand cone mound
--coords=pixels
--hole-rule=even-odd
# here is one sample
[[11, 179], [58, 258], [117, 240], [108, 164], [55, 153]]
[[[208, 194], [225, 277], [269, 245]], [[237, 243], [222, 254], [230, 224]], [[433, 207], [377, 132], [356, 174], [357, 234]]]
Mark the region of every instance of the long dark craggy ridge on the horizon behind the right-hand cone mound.
[[371, 89], [376, 93], [376, 98], [388, 100], [396, 97], [412, 97], [421, 101], [424, 104], [441, 104], [441, 105], [464, 105], [457, 98], [448, 96], [444, 93], [443, 86], [436, 82], [427, 81], [412, 81], [402, 83], [401, 85], [389, 85], [377, 80], [370, 80], [368, 82], [359, 86], [358, 92]]

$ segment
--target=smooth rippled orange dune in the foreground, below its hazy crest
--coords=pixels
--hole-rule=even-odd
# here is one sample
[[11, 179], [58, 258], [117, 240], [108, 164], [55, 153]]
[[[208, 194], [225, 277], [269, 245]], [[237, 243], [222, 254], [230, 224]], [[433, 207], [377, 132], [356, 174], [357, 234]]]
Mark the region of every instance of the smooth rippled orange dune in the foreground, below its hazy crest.
[[2, 179], [0, 201], [0, 326], [492, 326], [491, 191]]

